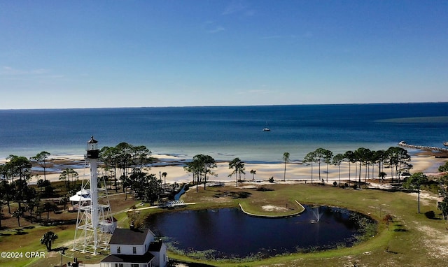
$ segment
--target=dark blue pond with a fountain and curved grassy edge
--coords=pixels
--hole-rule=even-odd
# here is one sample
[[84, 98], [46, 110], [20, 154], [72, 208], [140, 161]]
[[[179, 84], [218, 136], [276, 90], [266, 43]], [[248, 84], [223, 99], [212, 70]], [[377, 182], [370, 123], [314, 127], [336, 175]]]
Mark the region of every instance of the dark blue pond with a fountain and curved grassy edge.
[[299, 216], [275, 219], [251, 217], [239, 208], [162, 212], [147, 217], [146, 226], [170, 249], [200, 252], [210, 259], [349, 247], [366, 231], [374, 233], [374, 222], [358, 212], [327, 206], [305, 208]]

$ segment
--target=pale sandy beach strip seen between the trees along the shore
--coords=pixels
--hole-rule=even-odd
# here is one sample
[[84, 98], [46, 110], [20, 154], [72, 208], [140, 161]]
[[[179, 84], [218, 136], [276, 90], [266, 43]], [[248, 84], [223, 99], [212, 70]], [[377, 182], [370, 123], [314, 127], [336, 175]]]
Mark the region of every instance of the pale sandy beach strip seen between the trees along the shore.
[[[166, 182], [167, 183], [183, 183], [190, 182], [193, 180], [193, 176], [187, 173], [183, 169], [183, 160], [175, 156], [168, 155], [153, 155], [153, 157], [158, 159], [158, 163], [154, 164], [148, 169], [148, 173], [153, 173], [160, 177], [161, 173], [167, 173]], [[50, 181], [59, 180], [59, 175], [62, 173], [64, 168], [74, 168], [78, 172], [79, 179], [89, 178], [90, 171], [88, 165], [85, 163], [83, 157], [81, 156], [61, 156], [61, 157], [50, 157], [52, 163], [52, 168], [47, 171], [46, 178]], [[411, 164], [414, 166], [411, 173], [423, 172], [426, 175], [436, 175], [438, 166], [444, 164], [447, 159], [435, 158], [433, 155], [419, 154], [413, 156], [411, 159]], [[241, 174], [241, 180], [258, 180], [265, 181], [273, 177], [274, 181], [283, 181], [284, 164], [245, 164], [245, 175]], [[251, 174], [251, 170], [255, 171], [255, 175]], [[371, 172], [372, 168], [370, 168]], [[102, 168], [99, 168], [99, 175], [102, 175]], [[217, 168], [214, 170], [215, 175], [211, 175], [207, 180], [209, 181], [219, 181], [219, 182], [232, 182], [235, 181], [235, 175], [230, 177], [232, 170], [228, 167], [228, 162], [221, 161], [218, 162]], [[321, 164], [321, 179], [327, 180], [327, 166], [326, 164]], [[377, 166], [374, 168], [374, 178], [377, 178]], [[384, 168], [386, 172], [386, 180], [391, 178], [390, 168]], [[36, 174], [38, 176], [36, 176]], [[313, 180], [319, 180], [318, 164], [313, 164]], [[365, 167], [362, 168], [361, 177], [365, 176]], [[369, 175], [372, 177], [372, 174]], [[31, 183], [43, 178], [43, 173], [34, 171], [31, 177]], [[349, 179], [349, 164], [342, 164], [340, 168], [340, 178], [341, 180]], [[328, 180], [338, 180], [339, 171], [337, 166], [328, 166]], [[355, 165], [351, 164], [351, 180], [355, 179]], [[290, 162], [286, 165], [286, 181], [311, 181], [311, 166], [301, 164], [300, 162]], [[165, 180], [163, 180], [165, 182]]]

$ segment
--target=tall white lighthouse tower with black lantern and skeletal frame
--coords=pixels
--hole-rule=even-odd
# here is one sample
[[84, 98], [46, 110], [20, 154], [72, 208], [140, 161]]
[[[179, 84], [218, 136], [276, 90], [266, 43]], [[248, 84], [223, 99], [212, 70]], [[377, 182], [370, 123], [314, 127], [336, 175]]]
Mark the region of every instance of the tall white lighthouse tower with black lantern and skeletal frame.
[[[98, 141], [92, 136], [85, 156], [90, 164], [90, 180], [83, 181], [81, 190], [70, 198], [78, 202], [73, 250], [92, 254], [108, 250], [110, 233], [116, 228], [106, 188], [98, 187], [98, 158]], [[105, 185], [104, 179], [102, 185]]]

